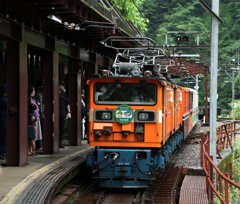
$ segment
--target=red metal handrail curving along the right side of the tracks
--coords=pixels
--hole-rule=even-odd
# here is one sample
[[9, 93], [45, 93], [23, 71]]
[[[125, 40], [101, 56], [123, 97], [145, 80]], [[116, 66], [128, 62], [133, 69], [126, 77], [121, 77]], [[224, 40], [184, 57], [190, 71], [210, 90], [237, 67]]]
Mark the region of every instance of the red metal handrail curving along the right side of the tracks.
[[[232, 127], [234, 125], [234, 128]], [[223, 129], [221, 129], [221, 127], [224, 126], [224, 132]], [[228, 129], [227, 129], [227, 126]], [[228, 131], [231, 131], [230, 134], [228, 134]], [[216, 144], [216, 148], [217, 151], [219, 151], [219, 143], [220, 144], [220, 148], [224, 149], [225, 145], [226, 147], [228, 147], [228, 144], [230, 144], [231, 146], [231, 141], [232, 141], [232, 137], [236, 136], [236, 122], [230, 122], [228, 124], [223, 124], [219, 127], [217, 127], [217, 135], [218, 135], [218, 141]], [[218, 167], [213, 163], [212, 161], [212, 156], [209, 155], [209, 132], [204, 132], [201, 134], [201, 165], [203, 167], [204, 172], [206, 173], [206, 184], [207, 187], [208, 185], [211, 188], [210, 191], [210, 204], [213, 204], [213, 192], [216, 194], [216, 196], [221, 200], [221, 202], [223, 204], [228, 204], [228, 183], [230, 183], [231, 185], [235, 186], [236, 188], [240, 189], [240, 185], [235, 183], [234, 181], [232, 181], [231, 179], [229, 179], [227, 176], [225, 176], [219, 169]], [[225, 140], [227, 139], [227, 140]], [[232, 148], [231, 148], [232, 149]], [[220, 153], [218, 153], [220, 155]], [[216, 172], [219, 174], [219, 178], [224, 179], [225, 180], [225, 201], [221, 195], [221, 193], [223, 192], [222, 189], [220, 189], [220, 193], [217, 191], [217, 189], [214, 187], [213, 184], [213, 169], [216, 170]], [[219, 186], [220, 188], [222, 188], [222, 180], [219, 179]]]

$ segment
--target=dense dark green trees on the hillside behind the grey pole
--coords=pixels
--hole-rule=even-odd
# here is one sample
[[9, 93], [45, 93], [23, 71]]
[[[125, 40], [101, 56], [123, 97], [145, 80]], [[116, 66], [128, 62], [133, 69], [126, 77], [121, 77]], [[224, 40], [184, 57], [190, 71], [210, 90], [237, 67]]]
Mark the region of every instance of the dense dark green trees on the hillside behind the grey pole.
[[[205, 2], [211, 7], [211, 0], [206, 0]], [[195, 0], [145, 0], [144, 5], [142, 12], [149, 19], [149, 29], [146, 35], [155, 39], [159, 45], [164, 43], [166, 31], [200, 31], [200, 45], [210, 45], [211, 16]], [[224, 67], [221, 69], [227, 68], [228, 70], [219, 71], [218, 107], [231, 109], [229, 104], [232, 101], [231, 89], [233, 80], [235, 82], [235, 99], [240, 98], [240, 77], [238, 72], [235, 73], [235, 79], [230, 78], [232, 77], [230, 68], [237, 68], [239, 64], [236, 58], [236, 50], [240, 47], [240, 2], [238, 0], [232, 0], [231, 2], [228, 0], [220, 1], [219, 16], [224, 21], [223, 24], [219, 24], [219, 68], [224, 64]], [[175, 36], [173, 35], [172, 39], [170, 37], [168, 36], [169, 44], [174, 44]], [[189, 37], [194, 38], [191, 35]], [[191, 45], [196, 45], [196, 40], [194, 40], [190, 41]], [[202, 54], [210, 59], [210, 50], [202, 50]], [[232, 59], [235, 59], [235, 63], [231, 63]], [[229, 66], [226, 67], [227, 64]], [[199, 81], [200, 106], [203, 106], [205, 103], [204, 80]], [[190, 81], [194, 82], [191, 79]], [[182, 85], [186, 86], [186, 84]], [[190, 84], [190, 87], [194, 88], [194, 86], [195, 84]]]

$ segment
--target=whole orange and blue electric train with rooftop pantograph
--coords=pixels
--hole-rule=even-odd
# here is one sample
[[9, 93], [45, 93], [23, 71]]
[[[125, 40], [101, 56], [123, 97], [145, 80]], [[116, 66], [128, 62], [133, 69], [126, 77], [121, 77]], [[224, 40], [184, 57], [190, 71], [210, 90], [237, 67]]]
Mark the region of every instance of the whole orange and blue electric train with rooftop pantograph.
[[86, 163], [100, 187], [146, 188], [197, 123], [198, 92], [164, 76], [166, 56], [151, 46], [117, 49], [112, 70], [87, 81], [95, 152]]

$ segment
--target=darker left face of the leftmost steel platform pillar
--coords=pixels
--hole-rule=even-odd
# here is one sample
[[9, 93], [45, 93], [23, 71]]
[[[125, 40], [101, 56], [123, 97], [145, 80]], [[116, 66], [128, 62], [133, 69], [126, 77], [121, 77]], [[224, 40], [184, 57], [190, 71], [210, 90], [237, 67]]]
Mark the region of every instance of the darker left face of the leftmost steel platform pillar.
[[19, 47], [18, 42], [7, 43], [7, 166], [19, 166]]

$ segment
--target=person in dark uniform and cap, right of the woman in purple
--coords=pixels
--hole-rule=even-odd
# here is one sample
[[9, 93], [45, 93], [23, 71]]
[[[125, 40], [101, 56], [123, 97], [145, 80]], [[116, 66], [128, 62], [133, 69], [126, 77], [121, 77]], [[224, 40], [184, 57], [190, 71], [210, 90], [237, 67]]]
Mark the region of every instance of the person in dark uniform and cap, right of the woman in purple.
[[70, 103], [65, 92], [65, 83], [59, 82], [59, 148], [65, 148], [62, 144], [65, 120], [71, 118]]

